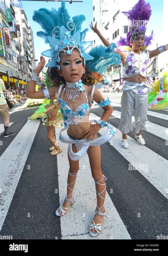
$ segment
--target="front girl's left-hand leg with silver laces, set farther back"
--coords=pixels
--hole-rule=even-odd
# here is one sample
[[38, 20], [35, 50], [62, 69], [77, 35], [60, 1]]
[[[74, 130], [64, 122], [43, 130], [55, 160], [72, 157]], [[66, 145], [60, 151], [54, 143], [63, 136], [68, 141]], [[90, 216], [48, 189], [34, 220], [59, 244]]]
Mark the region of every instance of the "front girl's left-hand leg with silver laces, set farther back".
[[[74, 144], [72, 144], [72, 150], [74, 153], [77, 153], [77, 148]], [[79, 160], [77, 161], [73, 161], [70, 157], [69, 157], [69, 153], [68, 153], [68, 161], [69, 161], [69, 172], [68, 172], [68, 180], [67, 183], [69, 184], [67, 186], [67, 198], [71, 199], [73, 197], [73, 188], [76, 182], [76, 178], [77, 178], [77, 173], [79, 170]], [[62, 204], [62, 207], [65, 208], [69, 208], [69, 206], [71, 205], [70, 201], [64, 201]], [[67, 212], [67, 209], [64, 209], [65, 212]], [[61, 216], [63, 216], [64, 214], [60, 211]]]

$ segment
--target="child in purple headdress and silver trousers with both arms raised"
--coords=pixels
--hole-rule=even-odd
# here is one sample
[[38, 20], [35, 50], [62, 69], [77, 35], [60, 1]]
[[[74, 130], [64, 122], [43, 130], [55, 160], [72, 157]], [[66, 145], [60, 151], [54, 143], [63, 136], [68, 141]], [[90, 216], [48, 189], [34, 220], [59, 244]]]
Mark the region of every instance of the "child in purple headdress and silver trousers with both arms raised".
[[[123, 62], [123, 75], [126, 80], [122, 89], [121, 122], [118, 126], [118, 129], [122, 132], [121, 145], [125, 149], [129, 148], [127, 133], [129, 133], [130, 130], [133, 130], [133, 126], [135, 127], [136, 140], [140, 145], [145, 145], [145, 140], [142, 138], [141, 130], [146, 130], [145, 123], [147, 121], [148, 108], [147, 98], [149, 91], [152, 90], [149, 81], [147, 80], [147, 65], [150, 58], [155, 57], [168, 49], [168, 45], [151, 51], [145, 49], [150, 44], [152, 33], [150, 37], [145, 37], [145, 25], [133, 26], [133, 22], [135, 20], [138, 21], [136, 24], [142, 24], [142, 21], [145, 21], [144, 24], [147, 24], [147, 21], [149, 21], [151, 16], [150, 9], [151, 7], [149, 4], [146, 4], [144, 0], [139, 0], [132, 10], [123, 12], [128, 16], [132, 30], [127, 33], [126, 39], [121, 37], [117, 45], [124, 46], [127, 44], [127, 46], [130, 47], [130, 51], [128, 53], [124, 53], [116, 49], [116, 52], [121, 55]], [[90, 27], [100, 37], [103, 44], [108, 47], [107, 51], [110, 50], [110, 43], [97, 29], [97, 23], [93, 26], [91, 22]], [[133, 122], [132, 126], [131, 119], [133, 111], [135, 122]]]

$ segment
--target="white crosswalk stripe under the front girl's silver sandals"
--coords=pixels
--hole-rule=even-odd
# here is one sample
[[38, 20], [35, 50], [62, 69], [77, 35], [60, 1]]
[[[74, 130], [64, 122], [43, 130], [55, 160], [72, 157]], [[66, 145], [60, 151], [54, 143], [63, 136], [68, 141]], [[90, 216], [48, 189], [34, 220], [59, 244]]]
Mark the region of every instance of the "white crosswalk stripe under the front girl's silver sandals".
[[[60, 130], [61, 128], [56, 128], [57, 141]], [[66, 132], [63, 132], [63, 135], [68, 137]], [[58, 184], [61, 205], [65, 199], [65, 195], [67, 194], [69, 161], [67, 155], [68, 144], [62, 143], [60, 140], [58, 141], [58, 144], [62, 149], [62, 152], [57, 155]], [[95, 182], [91, 175], [89, 158], [87, 154], [83, 156], [82, 159], [80, 159], [79, 164], [80, 170], [78, 171], [73, 192], [75, 203], [72, 206], [72, 209], [71, 207], [69, 208], [66, 218], [61, 218], [62, 239], [92, 239], [89, 234], [89, 225], [95, 214], [94, 210], [96, 209], [96, 191]], [[57, 205], [56, 209], [60, 205]], [[107, 215], [112, 216], [112, 218], [105, 218], [105, 221], [103, 222], [103, 228], [110, 230], [110, 232], [108, 232], [109, 236], [107, 236], [106, 232], [102, 233], [101, 239], [131, 239], [107, 192], [105, 198], [105, 208]], [[111, 228], [111, 226], [113, 228]], [[93, 239], [99, 238], [96, 236]]]

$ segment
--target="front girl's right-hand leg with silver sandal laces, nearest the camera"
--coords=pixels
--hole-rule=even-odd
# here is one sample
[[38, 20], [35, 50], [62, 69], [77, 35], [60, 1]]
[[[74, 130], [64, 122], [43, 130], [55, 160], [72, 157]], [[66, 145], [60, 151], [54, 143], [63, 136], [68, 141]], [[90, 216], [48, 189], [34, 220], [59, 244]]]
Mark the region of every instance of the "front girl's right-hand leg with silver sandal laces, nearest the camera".
[[[106, 182], [105, 179], [103, 178], [103, 174], [101, 171], [101, 150], [100, 146], [89, 146], [88, 148], [88, 156], [89, 156], [89, 162], [90, 162], [90, 168], [91, 168], [91, 174], [92, 177], [94, 178], [95, 182], [99, 182], [99, 184], [95, 184], [96, 186], [96, 191], [97, 191], [97, 206], [96, 210], [101, 213], [105, 212], [104, 209], [104, 203], [105, 203], [105, 196], [106, 196]], [[102, 223], [103, 218], [101, 215], [96, 214], [95, 217], [93, 218], [94, 223]], [[96, 230], [92, 229], [91, 230], [93, 233], [97, 233]]]

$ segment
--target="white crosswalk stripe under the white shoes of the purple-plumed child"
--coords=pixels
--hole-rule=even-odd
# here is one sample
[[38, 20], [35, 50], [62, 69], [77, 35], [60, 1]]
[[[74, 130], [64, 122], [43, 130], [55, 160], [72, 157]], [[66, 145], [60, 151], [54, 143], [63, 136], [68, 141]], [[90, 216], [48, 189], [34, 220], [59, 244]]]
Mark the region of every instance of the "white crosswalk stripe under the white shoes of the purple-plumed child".
[[[91, 113], [91, 119], [100, 119], [100, 117]], [[102, 135], [107, 128], [102, 128], [99, 133]], [[109, 142], [127, 161], [135, 167], [153, 186], [157, 188], [166, 198], [167, 193], [167, 160], [156, 154], [146, 146], [139, 145], [135, 139], [128, 137], [129, 149], [121, 146], [122, 134], [116, 127], [116, 134]], [[104, 131], [103, 131], [104, 130]]]

